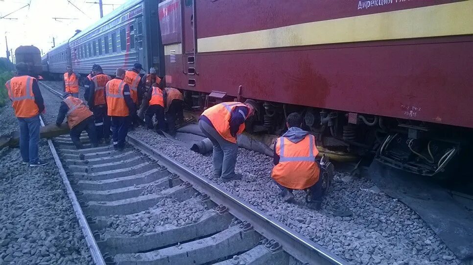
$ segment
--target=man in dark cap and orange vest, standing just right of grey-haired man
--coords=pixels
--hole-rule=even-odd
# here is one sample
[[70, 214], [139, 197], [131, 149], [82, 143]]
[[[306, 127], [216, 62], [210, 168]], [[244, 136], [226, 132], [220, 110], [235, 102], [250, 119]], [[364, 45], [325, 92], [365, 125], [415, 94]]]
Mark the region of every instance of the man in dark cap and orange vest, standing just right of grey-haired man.
[[130, 113], [131, 121], [133, 123], [133, 127], [131, 130], [134, 130], [135, 127], [142, 125], [142, 120], [138, 117], [136, 110], [140, 107], [139, 99], [142, 98], [142, 82], [140, 71], [143, 69], [140, 63], [136, 63], [133, 65], [133, 69], [129, 69], [125, 72], [125, 78], [123, 82], [125, 82], [128, 87], [130, 88], [130, 96], [135, 103], [135, 112]]

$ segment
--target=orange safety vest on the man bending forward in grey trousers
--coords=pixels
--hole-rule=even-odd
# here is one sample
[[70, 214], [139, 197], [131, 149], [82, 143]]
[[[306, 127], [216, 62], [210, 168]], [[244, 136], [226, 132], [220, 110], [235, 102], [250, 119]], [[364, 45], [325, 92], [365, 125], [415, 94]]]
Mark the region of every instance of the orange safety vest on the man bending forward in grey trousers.
[[[223, 102], [205, 110], [202, 115], [206, 116], [213, 125], [213, 128], [227, 141], [237, 143], [237, 137], [233, 137], [230, 132], [230, 117], [232, 110], [236, 107], [246, 107], [240, 102]], [[248, 107], [246, 107], [248, 108]], [[245, 130], [245, 124], [241, 124], [237, 134]]]

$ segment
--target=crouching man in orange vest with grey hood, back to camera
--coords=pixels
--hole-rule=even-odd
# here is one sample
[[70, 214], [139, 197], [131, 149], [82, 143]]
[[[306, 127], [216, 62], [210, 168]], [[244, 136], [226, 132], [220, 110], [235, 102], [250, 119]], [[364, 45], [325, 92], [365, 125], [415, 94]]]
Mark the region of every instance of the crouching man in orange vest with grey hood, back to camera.
[[319, 154], [315, 137], [302, 130], [302, 116], [293, 112], [287, 116], [287, 132], [274, 142], [274, 168], [271, 177], [282, 190], [284, 201], [293, 201], [292, 190], [310, 189], [309, 208], [319, 210], [322, 204]]

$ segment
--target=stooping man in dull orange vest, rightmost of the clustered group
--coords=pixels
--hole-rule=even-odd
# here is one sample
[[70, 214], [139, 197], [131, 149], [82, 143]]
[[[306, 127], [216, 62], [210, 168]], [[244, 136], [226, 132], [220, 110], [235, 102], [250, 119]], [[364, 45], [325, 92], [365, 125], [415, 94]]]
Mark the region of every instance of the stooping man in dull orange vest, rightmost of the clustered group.
[[177, 88], [165, 88], [166, 90], [166, 108], [164, 113], [167, 120], [167, 133], [176, 135], [176, 119], [184, 119], [183, 105], [184, 96]]

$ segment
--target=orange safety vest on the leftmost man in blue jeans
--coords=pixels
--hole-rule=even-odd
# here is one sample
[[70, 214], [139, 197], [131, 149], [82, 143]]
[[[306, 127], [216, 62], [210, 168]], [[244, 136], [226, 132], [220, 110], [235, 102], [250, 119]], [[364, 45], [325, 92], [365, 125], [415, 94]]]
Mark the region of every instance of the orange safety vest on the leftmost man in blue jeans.
[[15, 116], [19, 118], [31, 118], [39, 114], [38, 105], [34, 102], [33, 80], [34, 77], [23, 75], [15, 76], [5, 83]]

